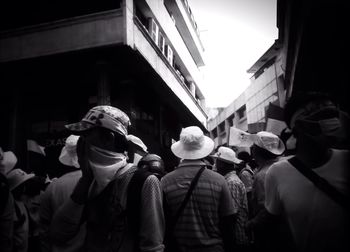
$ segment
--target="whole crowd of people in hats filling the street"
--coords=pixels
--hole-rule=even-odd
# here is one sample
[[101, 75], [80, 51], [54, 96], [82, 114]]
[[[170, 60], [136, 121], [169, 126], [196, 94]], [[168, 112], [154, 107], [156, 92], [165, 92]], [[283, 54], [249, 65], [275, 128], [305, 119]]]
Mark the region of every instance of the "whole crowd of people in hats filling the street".
[[0, 149], [1, 251], [348, 251], [344, 116], [326, 95], [295, 95], [288, 132], [258, 132], [249, 151], [189, 126], [166, 169], [123, 111], [96, 106], [66, 125], [59, 178]]

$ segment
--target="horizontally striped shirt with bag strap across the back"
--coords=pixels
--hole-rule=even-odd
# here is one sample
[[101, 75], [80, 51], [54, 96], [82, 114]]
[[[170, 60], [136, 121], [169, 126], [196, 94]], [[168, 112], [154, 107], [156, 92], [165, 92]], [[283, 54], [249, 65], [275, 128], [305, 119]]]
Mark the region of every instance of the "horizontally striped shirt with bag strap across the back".
[[[174, 216], [200, 167], [200, 160], [184, 160], [161, 180], [170, 215]], [[178, 219], [174, 238], [183, 251], [223, 251], [219, 220], [232, 215], [232, 198], [225, 178], [205, 169]]]

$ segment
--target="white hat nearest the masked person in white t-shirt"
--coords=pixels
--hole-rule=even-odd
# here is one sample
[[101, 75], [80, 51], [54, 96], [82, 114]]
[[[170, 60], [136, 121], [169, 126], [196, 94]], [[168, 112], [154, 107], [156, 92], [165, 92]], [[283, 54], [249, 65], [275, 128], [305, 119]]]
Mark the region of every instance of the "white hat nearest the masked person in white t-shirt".
[[285, 146], [282, 140], [275, 134], [267, 131], [260, 131], [256, 133], [256, 138], [254, 143], [275, 155], [281, 155]]

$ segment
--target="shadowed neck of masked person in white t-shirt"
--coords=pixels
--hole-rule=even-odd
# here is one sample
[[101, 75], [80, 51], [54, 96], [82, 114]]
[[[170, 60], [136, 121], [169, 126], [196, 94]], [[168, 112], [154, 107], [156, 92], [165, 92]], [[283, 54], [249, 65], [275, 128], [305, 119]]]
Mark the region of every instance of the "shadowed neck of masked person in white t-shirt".
[[306, 166], [314, 169], [329, 161], [332, 149], [320, 146], [298, 146], [295, 156]]

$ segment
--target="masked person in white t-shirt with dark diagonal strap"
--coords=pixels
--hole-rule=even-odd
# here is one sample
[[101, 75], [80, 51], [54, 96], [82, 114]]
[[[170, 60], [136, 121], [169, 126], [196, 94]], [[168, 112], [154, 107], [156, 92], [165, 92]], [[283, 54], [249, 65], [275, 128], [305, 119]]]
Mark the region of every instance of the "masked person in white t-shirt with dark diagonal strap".
[[326, 180], [348, 203], [349, 151], [330, 148], [339, 136], [339, 111], [326, 94], [295, 94], [285, 121], [297, 139], [296, 154], [267, 172], [266, 209], [286, 219], [297, 251], [348, 251], [349, 209], [302, 171]]

